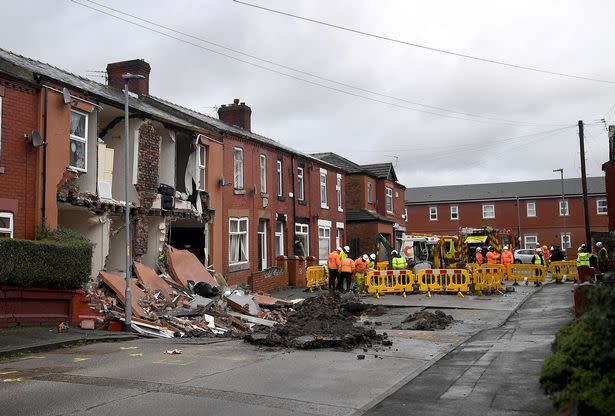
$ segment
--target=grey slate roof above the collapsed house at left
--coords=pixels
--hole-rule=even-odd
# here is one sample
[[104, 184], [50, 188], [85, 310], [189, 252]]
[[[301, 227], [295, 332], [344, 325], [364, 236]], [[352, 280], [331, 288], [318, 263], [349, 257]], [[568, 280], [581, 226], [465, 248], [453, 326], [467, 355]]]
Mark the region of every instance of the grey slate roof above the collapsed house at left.
[[[41, 76], [43, 78], [56, 81], [61, 85], [80, 90], [85, 95], [93, 97], [103, 103], [115, 104], [120, 108], [124, 105], [124, 93], [116, 90], [115, 88], [4, 49], [0, 49], [0, 72], [24, 80], [31, 84], [39, 84], [38, 76]], [[198, 126], [166, 113], [163, 110], [137, 98], [129, 96], [128, 103], [130, 108], [133, 110], [147, 114], [155, 120], [170, 123], [190, 130], [201, 130]]]

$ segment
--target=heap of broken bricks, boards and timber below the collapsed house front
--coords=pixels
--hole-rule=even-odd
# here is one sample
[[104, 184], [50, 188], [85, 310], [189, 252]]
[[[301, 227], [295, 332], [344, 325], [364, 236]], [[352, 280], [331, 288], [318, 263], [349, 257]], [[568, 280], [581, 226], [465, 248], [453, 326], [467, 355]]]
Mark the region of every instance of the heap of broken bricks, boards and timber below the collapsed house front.
[[[187, 250], [169, 248], [168, 273], [158, 275], [139, 262], [132, 279], [132, 329], [153, 337], [239, 337], [255, 325], [285, 323], [300, 301], [229, 288], [221, 275], [212, 276]], [[161, 269], [165, 269], [161, 265]], [[118, 329], [125, 320], [126, 282], [101, 272], [99, 286], [89, 291], [90, 306], [103, 318], [98, 328]]]

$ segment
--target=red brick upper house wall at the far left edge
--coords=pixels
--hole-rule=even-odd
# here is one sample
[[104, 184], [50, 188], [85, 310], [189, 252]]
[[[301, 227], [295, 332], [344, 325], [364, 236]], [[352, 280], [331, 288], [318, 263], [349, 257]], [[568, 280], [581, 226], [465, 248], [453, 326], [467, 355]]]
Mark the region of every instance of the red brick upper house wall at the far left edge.
[[42, 134], [37, 95], [29, 86], [0, 79], [0, 211], [13, 212], [15, 238], [33, 239], [36, 232], [38, 150], [24, 140], [24, 133], [36, 129]]

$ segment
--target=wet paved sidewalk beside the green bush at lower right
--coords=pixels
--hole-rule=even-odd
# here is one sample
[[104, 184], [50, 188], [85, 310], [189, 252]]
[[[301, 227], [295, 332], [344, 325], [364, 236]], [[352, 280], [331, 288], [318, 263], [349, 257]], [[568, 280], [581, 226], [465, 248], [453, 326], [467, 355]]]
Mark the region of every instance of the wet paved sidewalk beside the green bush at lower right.
[[570, 285], [545, 285], [501, 327], [482, 331], [367, 415], [547, 415], [538, 384], [555, 334], [572, 320]]

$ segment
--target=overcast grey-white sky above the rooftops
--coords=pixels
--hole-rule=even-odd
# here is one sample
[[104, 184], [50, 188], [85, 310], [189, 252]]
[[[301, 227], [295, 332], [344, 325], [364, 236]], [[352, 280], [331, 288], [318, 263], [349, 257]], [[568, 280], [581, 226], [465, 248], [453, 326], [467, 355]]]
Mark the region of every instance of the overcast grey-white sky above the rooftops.
[[[2, 0], [0, 47], [83, 76], [88, 70], [104, 70], [109, 62], [145, 59], [152, 66], [152, 95], [209, 115], [216, 114], [212, 107], [239, 98], [252, 108], [254, 132], [305, 152], [336, 152], [357, 163], [397, 163], [399, 179], [407, 187], [552, 179], [559, 177], [552, 172], [559, 167], [566, 177], [579, 177], [579, 119], [588, 124], [588, 175], [602, 175], [600, 165], [608, 157], [608, 139], [599, 120], [606, 117], [607, 124], [615, 124], [615, 83], [477, 62], [232, 0], [96, 1], [261, 59], [401, 100], [173, 34], [395, 105], [282, 76], [69, 0]], [[612, 1], [247, 1], [411, 43], [615, 82]], [[560, 129], [566, 126], [571, 128]]]

